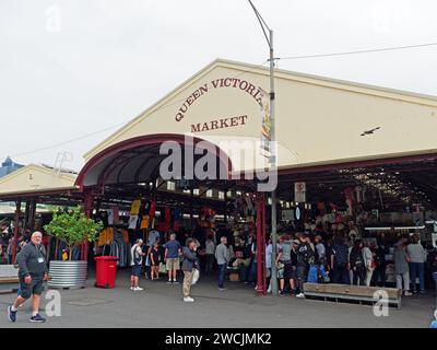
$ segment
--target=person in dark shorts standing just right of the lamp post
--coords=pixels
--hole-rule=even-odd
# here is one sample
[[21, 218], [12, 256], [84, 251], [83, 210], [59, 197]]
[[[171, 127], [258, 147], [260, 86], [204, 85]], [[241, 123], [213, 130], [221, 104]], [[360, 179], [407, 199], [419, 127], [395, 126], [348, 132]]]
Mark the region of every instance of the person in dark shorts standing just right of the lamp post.
[[280, 237], [276, 266], [280, 261], [284, 265], [284, 276], [280, 280], [280, 294], [285, 293], [285, 281], [288, 284], [287, 287], [290, 287], [290, 292], [295, 294], [296, 289], [294, 280], [296, 278], [297, 270], [297, 256], [293, 249], [293, 241], [288, 234], [284, 234]]

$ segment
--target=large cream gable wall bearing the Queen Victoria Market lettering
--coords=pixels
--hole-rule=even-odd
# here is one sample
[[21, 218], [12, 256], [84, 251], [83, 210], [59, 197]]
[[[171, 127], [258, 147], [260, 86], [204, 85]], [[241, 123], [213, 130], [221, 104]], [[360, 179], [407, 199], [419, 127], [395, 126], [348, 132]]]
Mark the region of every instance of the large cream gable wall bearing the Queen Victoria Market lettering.
[[[181, 121], [175, 120], [179, 107], [194, 90], [220, 78], [238, 78], [269, 90], [265, 70], [218, 61], [90, 151], [86, 161], [105, 148], [133, 137], [191, 135], [193, 124], [240, 115], [248, 116], [245, 126], [196, 132], [194, 136], [218, 145], [231, 140], [257, 141], [260, 136], [259, 105], [239, 89], [210, 89], [191, 105]], [[437, 150], [434, 137], [437, 100], [285, 72], [276, 73], [275, 85], [279, 166]], [[361, 137], [363, 131], [375, 127], [381, 129]], [[258, 149], [255, 153], [259, 154]], [[233, 154], [229, 158], [235, 170], [253, 168], [253, 163], [238, 162]]]

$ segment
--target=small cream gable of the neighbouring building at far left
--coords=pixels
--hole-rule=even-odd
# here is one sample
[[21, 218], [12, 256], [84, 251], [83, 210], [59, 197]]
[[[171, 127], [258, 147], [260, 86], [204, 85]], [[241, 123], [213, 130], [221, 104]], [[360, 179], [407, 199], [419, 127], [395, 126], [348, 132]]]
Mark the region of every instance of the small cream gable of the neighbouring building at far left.
[[39, 165], [27, 165], [0, 179], [0, 194], [74, 186], [74, 176], [56, 176]]

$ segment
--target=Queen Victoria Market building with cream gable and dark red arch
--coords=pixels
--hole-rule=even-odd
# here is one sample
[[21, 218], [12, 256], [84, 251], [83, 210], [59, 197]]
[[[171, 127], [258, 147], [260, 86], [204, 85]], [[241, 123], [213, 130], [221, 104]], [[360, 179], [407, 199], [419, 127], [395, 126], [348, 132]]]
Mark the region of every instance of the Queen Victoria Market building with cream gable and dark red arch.
[[[114, 214], [115, 208], [117, 217], [137, 215], [129, 211], [141, 200], [162, 210], [154, 221], [149, 208], [140, 230], [209, 230], [221, 222], [231, 231], [252, 231], [263, 244], [271, 187], [259, 185], [270, 183], [283, 228], [352, 222], [363, 233], [390, 233], [398, 225], [398, 232], [424, 230], [423, 238], [433, 241], [433, 230], [425, 229], [437, 219], [437, 97], [276, 70], [272, 174], [268, 86], [267, 69], [215, 60], [90, 150], [74, 188], [62, 188], [60, 197], [74, 197], [88, 215]], [[167, 168], [172, 173], [176, 164], [181, 172], [167, 178], [163, 164], [177, 147], [179, 162]], [[27, 197], [0, 192], [1, 200]], [[88, 253], [84, 244], [82, 258]], [[258, 276], [264, 276], [264, 253], [257, 254]], [[265, 293], [263, 281], [258, 287]]]

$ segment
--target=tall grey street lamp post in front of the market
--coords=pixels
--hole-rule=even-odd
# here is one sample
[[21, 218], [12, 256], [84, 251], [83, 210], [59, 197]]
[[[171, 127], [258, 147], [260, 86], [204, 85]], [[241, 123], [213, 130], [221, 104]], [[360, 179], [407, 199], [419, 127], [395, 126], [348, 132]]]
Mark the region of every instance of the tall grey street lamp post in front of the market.
[[[275, 119], [274, 119], [274, 105], [275, 105], [275, 94], [274, 94], [274, 56], [273, 56], [273, 31], [269, 28], [262, 19], [261, 14], [258, 12], [251, 0], [248, 0], [250, 5], [253, 9], [255, 14], [261, 25], [262, 32], [264, 33], [265, 39], [269, 44], [270, 49], [270, 172], [276, 172], [276, 138], [275, 138]], [[265, 33], [265, 28], [269, 31], [269, 36]], [[272, 201], [272, 273], [271, 273], [271, 287], [272, 294], [277, 295], [277, 272], [276, 272], [276, 190], [273, 189], [271, 191], [271, 201]]]

